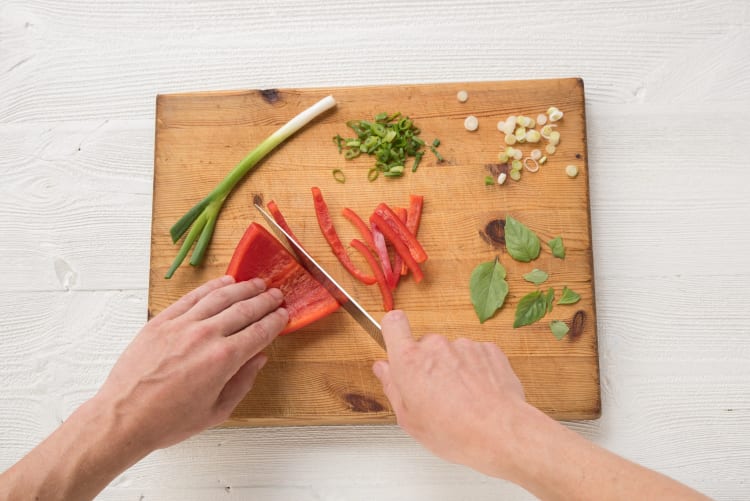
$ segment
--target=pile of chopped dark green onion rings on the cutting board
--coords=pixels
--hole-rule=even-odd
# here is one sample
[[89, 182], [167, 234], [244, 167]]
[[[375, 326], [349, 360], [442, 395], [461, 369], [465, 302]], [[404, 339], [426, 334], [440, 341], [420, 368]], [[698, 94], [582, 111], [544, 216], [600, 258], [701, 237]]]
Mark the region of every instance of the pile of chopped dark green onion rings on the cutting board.
[[[373, 120], [350, 120], [346, 125], [356, 137], [343, 138], [336, 134], [333, 142], [347, 160], [362, 153], [375, 157], [375, 166], [367, 173], [368, 181], [375, 181], [381, 173], [388, 178], [402, 177], [410, 157], [414, 158], [411, 171], [416, 172], [427, 149], [425, 141], [419, 137], [421, 130], [400, 112], [378, 113]], [[429, 150], [438, 162], [443, 162], [437, 150], [439, 145], [440, 141], [435, 139]]]

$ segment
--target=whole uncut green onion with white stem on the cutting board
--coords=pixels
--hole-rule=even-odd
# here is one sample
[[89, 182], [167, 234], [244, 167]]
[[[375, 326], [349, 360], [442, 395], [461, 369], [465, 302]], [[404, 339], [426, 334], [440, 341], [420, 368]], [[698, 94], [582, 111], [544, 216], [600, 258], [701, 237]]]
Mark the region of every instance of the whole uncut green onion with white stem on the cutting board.
[[[203, 200], [198, 202], [193, 208], [185, 213], [174, 226], [169, 229], [172, 242], [177, 241], [187, 233], [185, 240], [180, 247], [177, 257], [172, 262], [172, 266], [167, 270], [165, 278], [171, 278], [175, 270], [182, 264], [190, 248], [198, 241], [190, 258], [190, 264], [199, 265], [203, 261], [208, 244], [213, 237], [216, 221], [219, 217], [224, 201], [232, 192], [237, 183], [250, 172], [255, 165], [268, 155], [279, 144], [283, 143], [289, 136], [307, 125], [315, 117], [333, 108], [336, 100], [332, 96], [321, 99], [310, 108], [306, 109], [296, 117], [292, 118], [276, 132], [268, 136], [253, 151], [247, 154], [237, 166], [225, 177]], [[334, 142], [338, 141], [334, 137]], [[350, 150], [347, 150], [347, 152]]]

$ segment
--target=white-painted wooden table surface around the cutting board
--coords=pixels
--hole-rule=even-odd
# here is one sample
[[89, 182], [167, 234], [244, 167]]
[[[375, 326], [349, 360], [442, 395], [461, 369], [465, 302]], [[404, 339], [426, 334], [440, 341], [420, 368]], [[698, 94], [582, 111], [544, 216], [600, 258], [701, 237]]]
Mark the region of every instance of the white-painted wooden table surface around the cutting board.
[[[581, 76], [603, 416], [750, 499], [750, 3], [0, 1], [0, 470], [145, 321], [157, 93]], [[396, 427], [211, 430], [104, 500], [520, 500]]]

